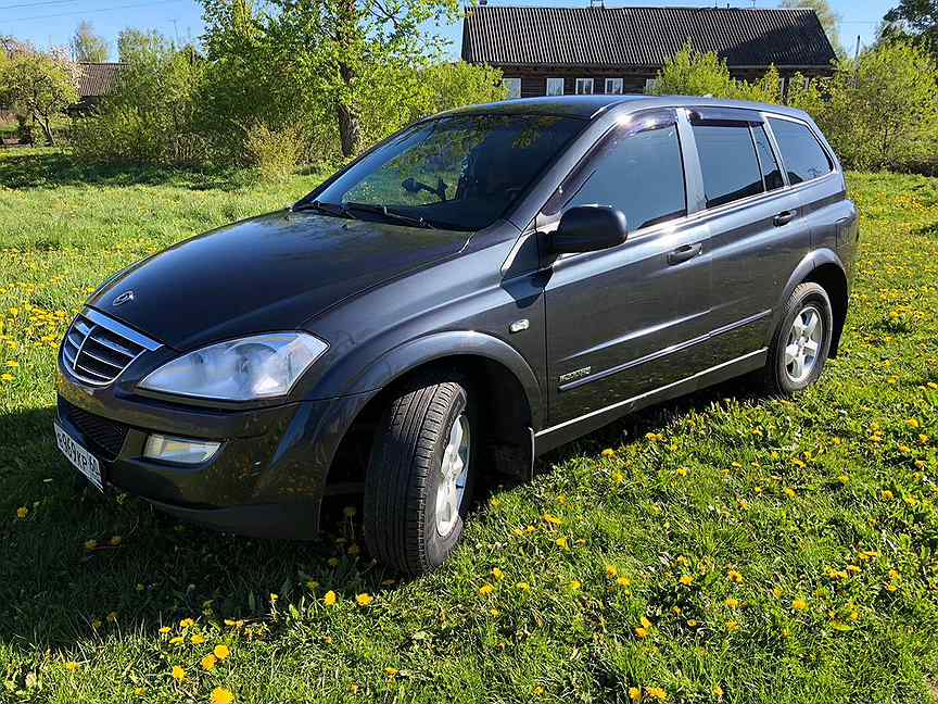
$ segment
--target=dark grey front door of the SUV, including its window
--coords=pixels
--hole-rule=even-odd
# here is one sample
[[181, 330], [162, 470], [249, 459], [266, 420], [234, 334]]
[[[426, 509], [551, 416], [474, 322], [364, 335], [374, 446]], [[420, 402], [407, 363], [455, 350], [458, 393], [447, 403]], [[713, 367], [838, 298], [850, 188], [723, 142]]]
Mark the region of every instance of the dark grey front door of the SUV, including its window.
[[630, 235], [554, 262], [545, 287], [552, 426], [706, 368], [709, 229], [687, 218], [686, 191], [673, 111], [617, 128], [558, 191], [568, 194], [558, 213], [611, 205]]

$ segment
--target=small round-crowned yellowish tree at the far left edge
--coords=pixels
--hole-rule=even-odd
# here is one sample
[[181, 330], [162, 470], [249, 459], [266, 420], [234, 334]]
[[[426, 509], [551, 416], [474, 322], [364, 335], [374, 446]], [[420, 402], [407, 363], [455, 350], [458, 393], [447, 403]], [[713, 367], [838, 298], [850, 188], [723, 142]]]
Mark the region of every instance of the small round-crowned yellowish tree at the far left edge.
[[13, 111], [37, 122], [54, 144], [52, 117], [78, 101], [77, 66], [64, 51], [21, 53], [8, 61], [2, 83]]

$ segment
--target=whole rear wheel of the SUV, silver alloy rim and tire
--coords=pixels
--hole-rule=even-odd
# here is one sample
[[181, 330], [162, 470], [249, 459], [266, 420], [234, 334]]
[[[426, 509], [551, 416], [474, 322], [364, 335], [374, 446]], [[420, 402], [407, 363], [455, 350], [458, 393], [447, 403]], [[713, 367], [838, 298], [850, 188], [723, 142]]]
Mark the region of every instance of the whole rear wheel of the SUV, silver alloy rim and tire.
[[833, 331], [827, 291], [817, 284], [799, 284], [769, 345], [763, 373], [769, 391], [790, 395], [814, 384], [827, 361]]

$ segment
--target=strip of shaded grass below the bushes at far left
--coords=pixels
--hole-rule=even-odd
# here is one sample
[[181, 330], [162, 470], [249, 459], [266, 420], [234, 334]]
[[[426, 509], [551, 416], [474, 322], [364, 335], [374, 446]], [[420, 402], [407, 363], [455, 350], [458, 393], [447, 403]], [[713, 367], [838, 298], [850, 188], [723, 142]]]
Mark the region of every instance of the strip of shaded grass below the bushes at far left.
[[97, 164], [60, 150], [17, 149], [0, 154], [0, 184], [12, 190], [61, 186], [173, 186], [189, 190], [233, 191], [245, 185], [243, 169], [198, 169]]

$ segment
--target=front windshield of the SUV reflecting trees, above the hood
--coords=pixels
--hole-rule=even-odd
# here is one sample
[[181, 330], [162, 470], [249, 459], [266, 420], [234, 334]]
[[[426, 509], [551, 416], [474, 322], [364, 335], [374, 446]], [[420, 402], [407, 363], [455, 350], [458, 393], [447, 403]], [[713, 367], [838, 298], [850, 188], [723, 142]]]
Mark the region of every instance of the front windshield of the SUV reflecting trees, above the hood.
[[473, 114], [419, 123], [297, 208], [444, 229], [491, 225], [585, 121]]

